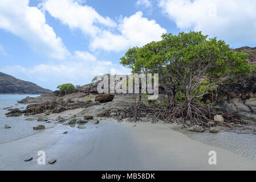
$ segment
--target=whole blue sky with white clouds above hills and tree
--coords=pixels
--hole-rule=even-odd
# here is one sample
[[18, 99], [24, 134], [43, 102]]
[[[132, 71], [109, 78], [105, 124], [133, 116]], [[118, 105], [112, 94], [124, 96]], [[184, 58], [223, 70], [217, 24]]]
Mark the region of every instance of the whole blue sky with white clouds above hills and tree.
[[165, 33], [256, 47], [255, 0], [0, 0], [0, 72], [56, 90], [104, 73]]

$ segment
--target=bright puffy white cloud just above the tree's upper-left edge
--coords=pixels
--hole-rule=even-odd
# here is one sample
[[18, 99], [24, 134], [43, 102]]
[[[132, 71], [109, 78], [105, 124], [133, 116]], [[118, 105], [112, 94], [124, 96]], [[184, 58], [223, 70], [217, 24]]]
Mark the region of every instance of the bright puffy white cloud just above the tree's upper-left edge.
[[144, 46], [149, 42], [161, 40], [161, 35], [166, 33], [166, 30], [155, 20], [144, 18], [141, 11], [121, 20], [118, 30], [120, 34], [103, 31], [91, 42], [91, 48], [93, 50], [123, 51], [129, 47]]

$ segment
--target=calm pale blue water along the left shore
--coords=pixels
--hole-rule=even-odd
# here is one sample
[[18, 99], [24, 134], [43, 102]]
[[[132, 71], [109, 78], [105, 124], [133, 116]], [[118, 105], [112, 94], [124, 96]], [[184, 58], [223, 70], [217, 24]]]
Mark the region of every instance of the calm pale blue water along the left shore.
[[[17, 104], [17, 101], [23, 98], [37, 97], [39, 95], [7, 95], [0, 94], [0, 143], [7, 142], [9, 140], [25, 137], [26, 135], [33, 134], [32, 127], [36, 125], [36, 121], [25, 121], [25, 117], [6, 117], [5, 114], [9, 111], [3, 109], [10, 107], [11, 109], [19, 108], [21, 110], [26, 109], [27, 105]], [[11, 126], [11, 129], [5, 129], [5, 125]]]

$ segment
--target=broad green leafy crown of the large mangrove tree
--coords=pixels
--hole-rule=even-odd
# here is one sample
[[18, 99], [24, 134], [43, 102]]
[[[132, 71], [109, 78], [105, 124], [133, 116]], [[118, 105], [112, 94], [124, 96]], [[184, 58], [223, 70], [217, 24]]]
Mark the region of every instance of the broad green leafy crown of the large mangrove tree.
[[[121, 64], [133, 73], [159, 73], [164, 84], [178, 100], [202, 97], [218, 84], [248, 76], [247, 53], [231, 51], [217, 38], [208, 39], [201, 32], [164, 34], [160, 42], [131, 48]], [[202, 81], [202, 80], [206, 80]]]

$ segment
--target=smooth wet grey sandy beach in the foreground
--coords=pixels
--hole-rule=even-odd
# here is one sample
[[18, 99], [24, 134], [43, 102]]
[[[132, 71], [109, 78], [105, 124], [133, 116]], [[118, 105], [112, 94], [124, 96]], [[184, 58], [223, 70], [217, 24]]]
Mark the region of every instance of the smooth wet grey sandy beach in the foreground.
[[[81, 109], [58, 115], [77, 114]], [[135, 126], [136, 125], [136, 126]], [[256, 162], [174, 131], [176, 124], [101, 119], [85, 129], [51, 123], [46, 130], [0, 144], [1, 170], [255, 170]], [[68, 131], [67, 134], [63, 134]], [[38, 151], [46, 153], [39, 165]], [[208, 163], [217, 152], [217, 165]], [[25, 159], [32, 156], [30, 162]], [[48, 164], [57, 159], [54, 164]]]

